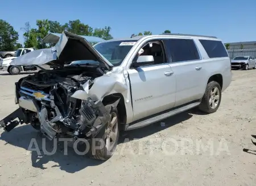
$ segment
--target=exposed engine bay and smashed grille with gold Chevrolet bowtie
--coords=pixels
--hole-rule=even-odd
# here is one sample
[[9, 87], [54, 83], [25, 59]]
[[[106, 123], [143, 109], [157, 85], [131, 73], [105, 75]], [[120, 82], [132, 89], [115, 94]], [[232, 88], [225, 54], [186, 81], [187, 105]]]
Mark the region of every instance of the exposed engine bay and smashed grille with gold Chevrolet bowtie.
[[86, 94], [86, 86], [90, 89], [99, 76], [100, 68], [69, 66], [21, 78], [16, 82], [16, 103], [23, 111], [23, 122], [49, 139], [58, 134], [94, 137], [109, 121], [110, 105], [104, 106], [96, 96], [82, 100], [76, 92]]

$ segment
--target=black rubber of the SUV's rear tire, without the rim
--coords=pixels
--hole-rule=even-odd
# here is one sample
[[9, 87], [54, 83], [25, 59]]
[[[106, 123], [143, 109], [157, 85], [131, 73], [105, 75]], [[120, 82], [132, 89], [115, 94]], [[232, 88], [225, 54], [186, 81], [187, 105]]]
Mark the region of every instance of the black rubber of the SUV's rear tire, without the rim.
[[[209, 104], [209, 99], [210, 99], [210, 91], [214, 87], [217, 87], [218, 90], [220, 91], [220, 100], [218, 101], [218, 105], [216, 106], [216, 108], [212, 109], [210, 107], [210, 104]], [[214, 113], [218, 110], [218, 107], [220, 106], [220, 103], [221, 103], [221, 87], [220, 87], [220, 84], [218, 84], [218, 82], [216, 82], [216, 81], [210, 81], [207, 84], [207, 88], [205, 90], [205, 93], [204, 93], [204, 96], [202, 98], [201, 104], [199, 105], [199, 110], [203, 111], [204, 113], [208, 113], [208, 114]]]

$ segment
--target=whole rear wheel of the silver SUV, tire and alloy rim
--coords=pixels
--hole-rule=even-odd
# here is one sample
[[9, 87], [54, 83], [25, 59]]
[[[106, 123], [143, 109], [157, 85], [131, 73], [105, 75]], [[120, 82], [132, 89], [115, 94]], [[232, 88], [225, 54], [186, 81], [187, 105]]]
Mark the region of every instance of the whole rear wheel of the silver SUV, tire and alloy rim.
[[[214, 93], [216, 91], [216, 93]], [[214, 94], [212, 94], [214, 93]], [[218, 97], [217, 97], [218, 96]], [[213, 102], [210, 103], [210, 100]], [[217, 100], [218, 99], [218, 100]], [[217, 102], [218, 101], [218, 102]], [[218, 110], [221, 102], [221, 87], [220, 84], [216, 81], [210, 81], [207, 84], [207, 88], [205, 90], [204, 96], [202, 98], [201, 104], [199, 105], [199, 109], [204, 113], [214, 113]], [[215, 105], [213, 105], [215, 104]]]

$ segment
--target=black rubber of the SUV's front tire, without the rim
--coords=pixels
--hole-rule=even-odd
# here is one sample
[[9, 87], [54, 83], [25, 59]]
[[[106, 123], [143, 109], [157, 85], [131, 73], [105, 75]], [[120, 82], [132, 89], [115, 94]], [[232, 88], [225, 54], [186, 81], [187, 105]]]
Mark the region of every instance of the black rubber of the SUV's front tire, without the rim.
[[[114, 151], [117, 147], [117, 143], [118, 143], [118, 139], [119, 139], [119, 117], [118, 117], [118, 111], [117, 108], [113, 108], [112, 112], [115, 112], [117, 114], [117, 138], [115, 140], [115, 143], [113, 145], [113, 148], [108, 151], [105, 147], [101, 148], [101, 149], [94, 149], [94, 146], [92, 145], [92, 141], [90, 142], [90, 149], [88, 152], [88, 156], [89, 158], [92, 159], [98, 159], [98, 160], [108, 160], [109, 158], [112, 157], [112, 155], [114, 154]], [[106, 124], [107, 127], [107, 124]], [[100, 133], [98, 133], [98, 135], [95, 138], [99, 138], [99, 139], [103, 139], [104, 140], [104, 136], [105, 136], [105, 129], [106, 127], [104, 127]]]

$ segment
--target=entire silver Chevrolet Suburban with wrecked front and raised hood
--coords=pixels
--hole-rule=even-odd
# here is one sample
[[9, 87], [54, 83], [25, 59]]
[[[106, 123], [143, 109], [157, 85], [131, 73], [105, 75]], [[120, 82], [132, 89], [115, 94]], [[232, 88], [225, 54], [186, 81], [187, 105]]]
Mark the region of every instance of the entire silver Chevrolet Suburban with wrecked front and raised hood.
[[[31, 60], [31, 65], [54, 63], [60, 68], [20, 78], [15, 83], [19, 109], [0, 125], [11, 131], [30, 123], [51, 140], [63, 134], [73, 142], [86, 139], [88, 154], [95, 159], [113, 155], [119, 131], [196, 107], [214, 113], [232, 80], [228, 52], [221, 39], [210, 36], [135, 36], [92, 47], [63, 32], [52, 56], [57, 57]], [[88, 63], [65, 65], [79, 60]], [[28, 62], [18, 58], [15, 63]]]

